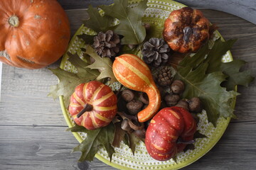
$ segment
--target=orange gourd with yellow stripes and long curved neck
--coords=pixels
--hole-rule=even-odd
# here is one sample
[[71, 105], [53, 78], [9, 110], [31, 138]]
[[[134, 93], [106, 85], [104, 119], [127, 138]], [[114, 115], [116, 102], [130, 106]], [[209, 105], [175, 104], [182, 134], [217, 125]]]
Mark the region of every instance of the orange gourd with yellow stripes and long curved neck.
[[160, 108], [161, 96], [147, 64], [136, 55], [116, 57], [112, 66], [117, 81], [134, 91], [143, 91], [149, 97], [149, 105], [138, 113], [139, 122], [151, 119]]

